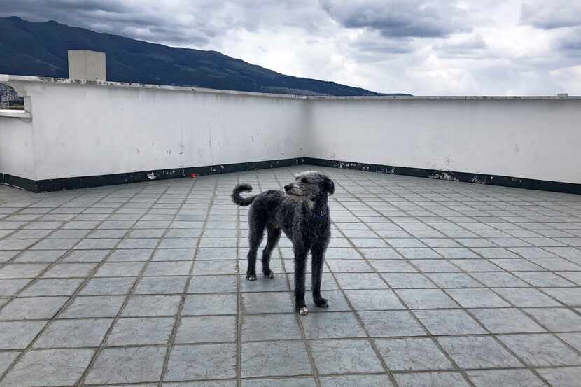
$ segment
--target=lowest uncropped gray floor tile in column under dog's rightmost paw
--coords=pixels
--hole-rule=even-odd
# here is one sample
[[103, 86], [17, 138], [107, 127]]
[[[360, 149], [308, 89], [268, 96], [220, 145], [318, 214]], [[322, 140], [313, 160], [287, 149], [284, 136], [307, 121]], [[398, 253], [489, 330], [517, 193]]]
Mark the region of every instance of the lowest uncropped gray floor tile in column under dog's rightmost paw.
[[319, 374], [384, 372], [367, 340], [316, 340], [309, 347]]

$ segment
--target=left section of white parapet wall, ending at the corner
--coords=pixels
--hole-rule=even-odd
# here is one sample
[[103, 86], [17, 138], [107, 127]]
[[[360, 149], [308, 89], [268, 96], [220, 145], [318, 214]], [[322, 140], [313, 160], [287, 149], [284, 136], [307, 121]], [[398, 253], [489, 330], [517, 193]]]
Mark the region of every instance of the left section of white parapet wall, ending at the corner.
[[[45, 180], [305, 155], [306, 99], [30, 78], [8, 84], [30, 99], [36, 169], [22, 176], [2, 162], [6, 174]], [[0, 122], [0, 143], [23, 125]], [[20, 143], [10, 148], [20, 155]]]

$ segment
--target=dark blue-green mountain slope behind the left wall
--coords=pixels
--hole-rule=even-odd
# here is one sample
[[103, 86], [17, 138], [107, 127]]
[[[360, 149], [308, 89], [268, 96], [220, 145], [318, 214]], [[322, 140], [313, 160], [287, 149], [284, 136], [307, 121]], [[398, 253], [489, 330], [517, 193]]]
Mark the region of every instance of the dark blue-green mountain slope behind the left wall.
[[358, 87], [286, 76], [216, 51], [174, 48], [69, 27], [0, 17], [0, 73], [68, 78], [67, 50], [106, 53], [107, 79], [246, 92], [385, 95]]

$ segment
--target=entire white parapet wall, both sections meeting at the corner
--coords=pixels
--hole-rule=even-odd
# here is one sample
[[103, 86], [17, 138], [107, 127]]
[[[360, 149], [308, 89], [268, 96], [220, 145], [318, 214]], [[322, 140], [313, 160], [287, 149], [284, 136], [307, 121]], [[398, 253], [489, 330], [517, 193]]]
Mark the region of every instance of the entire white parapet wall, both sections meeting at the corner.
[[581, 192], [580, 97], [300, 97], [24, 76], [0, 82], [26, 106], [0, 111], [0, 177], [84, 179], [46, 190], [115, 182], [90, 183], [94, 176], [174, 177], [174, 169], [283, 160], [542, 188], [519, 185], [533, 179]]

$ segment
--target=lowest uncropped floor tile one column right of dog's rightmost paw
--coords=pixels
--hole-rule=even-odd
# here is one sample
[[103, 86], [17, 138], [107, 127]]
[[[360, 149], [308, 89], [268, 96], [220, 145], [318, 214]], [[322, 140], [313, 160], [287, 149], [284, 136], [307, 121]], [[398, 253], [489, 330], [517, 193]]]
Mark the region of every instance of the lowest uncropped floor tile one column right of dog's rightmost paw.
[[440, 351], [432, 339], [380, 339], [375, 345], [389, 370], [420, 371], [448, 370], [452, 363]]

